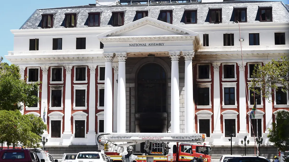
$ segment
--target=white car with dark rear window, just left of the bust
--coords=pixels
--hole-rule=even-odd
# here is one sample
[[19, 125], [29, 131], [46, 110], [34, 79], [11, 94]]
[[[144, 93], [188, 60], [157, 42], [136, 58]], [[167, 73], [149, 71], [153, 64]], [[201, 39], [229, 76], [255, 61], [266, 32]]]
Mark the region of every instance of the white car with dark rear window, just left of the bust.
[[110, 162], [108, 157], [102, 152], [79, 152], [75, 162]]

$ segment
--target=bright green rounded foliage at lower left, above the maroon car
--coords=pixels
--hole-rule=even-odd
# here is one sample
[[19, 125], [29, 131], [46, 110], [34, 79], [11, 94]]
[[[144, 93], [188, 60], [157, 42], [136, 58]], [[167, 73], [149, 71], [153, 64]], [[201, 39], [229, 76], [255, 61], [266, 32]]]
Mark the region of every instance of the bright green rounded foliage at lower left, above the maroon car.
[[25, 146], [39, 145], [47, 125], [33, 114], [22, 115], [19, 110], [0, 110], [0, 141]]

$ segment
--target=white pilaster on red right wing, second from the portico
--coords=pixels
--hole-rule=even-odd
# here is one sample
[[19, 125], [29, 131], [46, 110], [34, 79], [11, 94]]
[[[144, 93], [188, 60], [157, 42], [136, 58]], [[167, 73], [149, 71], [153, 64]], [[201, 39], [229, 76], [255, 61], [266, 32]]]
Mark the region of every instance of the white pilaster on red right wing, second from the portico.
[[[245, 84], [245, 76], [244, 76], [244, 66], [246, 65], [246, 62], [238, 63], [239, 66], [239, 116], [240, 116], [240, 131], [239, 135], [240, 137], [243, 137], [243, 134], [247, 134], [247, 110], [246, 110], [246, 91], [247, 87]], [[248, 95], [249, 96], [249, 95]]]

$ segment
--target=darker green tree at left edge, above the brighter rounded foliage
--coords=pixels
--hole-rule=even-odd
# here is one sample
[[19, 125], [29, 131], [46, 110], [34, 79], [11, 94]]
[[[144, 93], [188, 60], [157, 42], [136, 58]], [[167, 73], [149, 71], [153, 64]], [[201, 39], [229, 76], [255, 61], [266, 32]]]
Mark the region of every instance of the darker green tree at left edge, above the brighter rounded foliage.
[[21, 79], [19, 67], [17, 65], [8, 65], [2, 62], [0, 58], [0, 110], [22, 110], [23, 106], [19, 103], [25, 103], [25, 106], [32, 106], [39, 102], [35, 92], [39, 91], [38, 84], [35, 82], [27, 84]]

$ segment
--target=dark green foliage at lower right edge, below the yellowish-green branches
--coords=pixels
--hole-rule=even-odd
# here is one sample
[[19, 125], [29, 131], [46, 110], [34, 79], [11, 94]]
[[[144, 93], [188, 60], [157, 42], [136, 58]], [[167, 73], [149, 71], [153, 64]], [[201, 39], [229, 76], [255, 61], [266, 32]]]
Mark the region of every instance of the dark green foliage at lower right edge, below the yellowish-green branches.
[[272, 123], [273, 129], [269, 129], [269, 142], [272, 142], [281, 151], [289, 150], [289, 112], [277, 112], [276, 120], [277, 123]]

